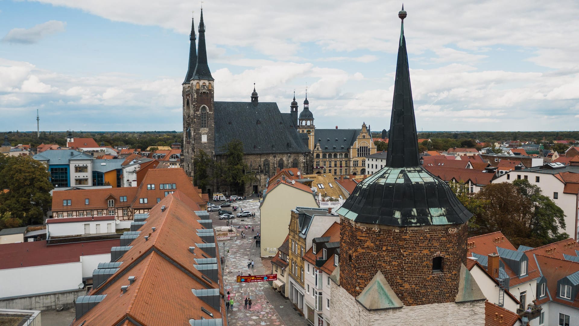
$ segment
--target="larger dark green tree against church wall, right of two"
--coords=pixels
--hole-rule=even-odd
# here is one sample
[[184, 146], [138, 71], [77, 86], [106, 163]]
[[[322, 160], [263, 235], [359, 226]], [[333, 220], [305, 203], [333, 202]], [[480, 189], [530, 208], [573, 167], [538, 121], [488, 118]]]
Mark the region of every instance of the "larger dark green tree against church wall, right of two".
[[243, 192], [245, 183], [255, 180], [255, 173], [249, 171], [249, 166], [243, 161], [243, 143], [234, 139], [223, 146], [225, 162], [222, 166], [223, 176], [232, 190]]

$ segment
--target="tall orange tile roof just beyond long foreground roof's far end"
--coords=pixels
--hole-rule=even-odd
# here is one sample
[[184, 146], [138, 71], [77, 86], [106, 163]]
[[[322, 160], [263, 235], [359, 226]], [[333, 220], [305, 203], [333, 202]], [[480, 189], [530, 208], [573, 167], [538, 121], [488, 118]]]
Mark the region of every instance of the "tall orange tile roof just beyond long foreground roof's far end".
[[[207, 205], [207, 201], [201, 198], [201, 194], [197, 191], [193, 183], [190, 182], [189, 177], [185, 174], [185, 171], [181, 168], [174, 169], [149, 169], [146, 172], [145, 178], [143, 178], [141, 185], [138, 187], [137, 194], [134, 197], [132, 207], [138, 208], [151, 208], [157, 204], [157, 198], [164, 198], [165, 192], [175, 191], [175, 189], [160, 189], [160, 184], [175, 184], [179, 191], [187, 195], [193, 201], [199, 205], [199, 211], [201, 208]], [[155, 184], [154, 190], [148, 190], [147, 184]], [[140, 198], [147, 198], [146, 203], [140, 202]]]

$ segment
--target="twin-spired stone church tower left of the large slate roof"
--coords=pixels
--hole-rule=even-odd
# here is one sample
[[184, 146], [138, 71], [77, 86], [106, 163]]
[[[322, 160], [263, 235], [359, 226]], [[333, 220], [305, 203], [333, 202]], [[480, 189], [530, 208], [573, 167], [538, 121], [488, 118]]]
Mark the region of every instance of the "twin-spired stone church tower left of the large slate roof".
[[199, 51], [195, 48], [195, 24], [189, 37], [189, 68], [183, 82], [183, 167], [193, 175], [193, 157], [200, 150], [210, 157], [215, 150], [214, 79], [207, 64], [203, 9], [199, 21]]

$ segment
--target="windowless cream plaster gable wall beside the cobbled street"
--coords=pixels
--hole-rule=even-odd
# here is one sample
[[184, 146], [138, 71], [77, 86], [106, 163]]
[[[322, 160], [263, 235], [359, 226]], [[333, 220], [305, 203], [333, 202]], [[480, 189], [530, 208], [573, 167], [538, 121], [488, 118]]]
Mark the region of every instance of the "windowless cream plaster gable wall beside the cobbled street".
[[276, 255], [288, 235], [291, 210], [298, 206], [319, 207], [313, 194], [287, 184], [280, 184], [266, 194], [259, 207], [262, 257]]

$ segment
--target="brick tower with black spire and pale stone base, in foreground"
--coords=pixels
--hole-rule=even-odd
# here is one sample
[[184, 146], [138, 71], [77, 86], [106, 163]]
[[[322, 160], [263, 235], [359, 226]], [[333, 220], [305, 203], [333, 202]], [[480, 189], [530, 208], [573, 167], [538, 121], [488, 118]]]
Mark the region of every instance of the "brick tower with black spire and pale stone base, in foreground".
[[338, 209], [331, 324], [484, 325], [485, 296], [465, 266], [472, 213], [420, 165], [404, 8], [398, 16], [387, 162]]

